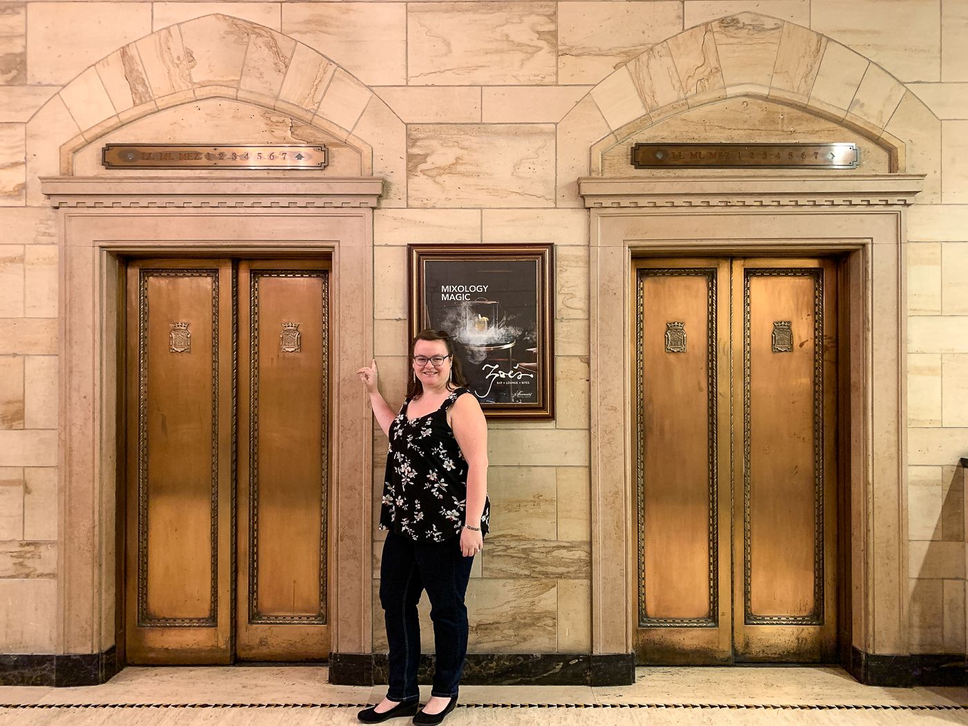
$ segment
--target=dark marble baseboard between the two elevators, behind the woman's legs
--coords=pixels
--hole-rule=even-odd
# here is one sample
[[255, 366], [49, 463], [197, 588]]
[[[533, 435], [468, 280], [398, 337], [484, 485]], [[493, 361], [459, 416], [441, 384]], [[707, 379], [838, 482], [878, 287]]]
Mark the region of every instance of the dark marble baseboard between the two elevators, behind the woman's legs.
[[[431, 683], [434, 656], [422, 655], [417, 681]], [[334, 652], [329, 682], [380, 685], [386, 682], [386, 653]], [[468, 653], [463, 685], [628, 685], [635, 682], [632, 653]]]

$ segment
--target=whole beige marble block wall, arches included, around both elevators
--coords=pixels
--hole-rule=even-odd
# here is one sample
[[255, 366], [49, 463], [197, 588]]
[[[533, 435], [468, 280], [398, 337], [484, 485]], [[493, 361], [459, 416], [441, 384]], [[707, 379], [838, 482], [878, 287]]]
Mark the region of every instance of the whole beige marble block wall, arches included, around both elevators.
[[[49, 587], [57, 234], [38, 177], [105, 175], [106, 141], [216, 137], [325, 142], [327, 174], [387, 180], [374, 220], [373, 345], [398, 400], [407, 243], [557, 243], [559, 416], [492, 427], [495, 531], [469, 595], [472, 648], [589, 649], [589, 411], [599, 402], [588, 380], [589, 216], [575, 182], [635, 173], [631, 139], [662, 133], [841, 133], [862, 145], [861, 173], [893, 164], [927, 175], [906, 256], [905, 608], [911, 648], [957, 650], [964, 548], [959, 560], [952, 523], [963, 492], [950, 469], [968, 454], [966, 26], [968, 0], [0, 2], [0, 622], [10, 623], [0, 652], [59, 647]], [[36, 612], [33, 624], [24, 612]]]

